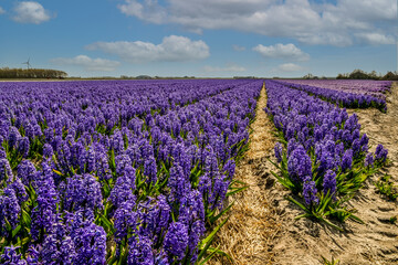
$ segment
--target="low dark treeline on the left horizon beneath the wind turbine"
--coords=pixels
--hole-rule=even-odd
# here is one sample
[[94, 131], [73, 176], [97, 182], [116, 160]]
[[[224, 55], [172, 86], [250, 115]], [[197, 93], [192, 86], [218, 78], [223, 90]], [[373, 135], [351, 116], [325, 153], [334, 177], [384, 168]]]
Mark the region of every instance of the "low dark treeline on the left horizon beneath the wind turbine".
[[59, 70], [0, 68], [0, 78], [65, 78], [67, 74]]

